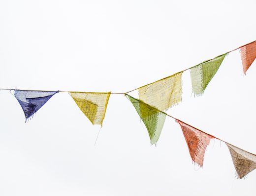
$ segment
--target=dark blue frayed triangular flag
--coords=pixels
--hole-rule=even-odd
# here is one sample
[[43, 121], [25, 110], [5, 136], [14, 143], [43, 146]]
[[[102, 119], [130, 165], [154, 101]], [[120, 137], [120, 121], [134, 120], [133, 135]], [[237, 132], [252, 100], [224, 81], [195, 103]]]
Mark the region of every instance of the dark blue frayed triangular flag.
[[56, 93], [58, 93], [58, 91], [14, 90], [14, 96], [17, 98], [24, 111], [26, 122]]

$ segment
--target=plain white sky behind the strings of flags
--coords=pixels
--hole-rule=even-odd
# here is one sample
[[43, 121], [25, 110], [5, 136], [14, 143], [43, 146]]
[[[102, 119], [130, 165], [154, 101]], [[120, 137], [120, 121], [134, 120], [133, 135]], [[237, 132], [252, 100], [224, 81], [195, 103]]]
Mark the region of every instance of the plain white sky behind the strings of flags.
[[[256, 40], [254, 0], [1, 0], [0, 87], [127, 92]], [[183, 74], [183, 101], [167, 111], [256, 153], [256, 62], [243, 76], [230, 53], [202, 97]], [[100, 130], [67, 93], [28, 123], [0, 91], [1, 196], [253, 196], [256, 172], [235, 178], [212, 140], [201, 170], [167, 118], [157, 147], [122, 95]]]

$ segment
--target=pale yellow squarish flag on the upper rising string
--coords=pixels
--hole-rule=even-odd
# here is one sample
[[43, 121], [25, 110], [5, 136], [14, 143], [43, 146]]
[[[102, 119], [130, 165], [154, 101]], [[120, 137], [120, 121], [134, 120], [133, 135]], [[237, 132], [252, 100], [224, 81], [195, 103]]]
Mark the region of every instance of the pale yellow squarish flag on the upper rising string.
[[164, 111], [181, 102], [182, 72], [139, 88], [139, 99]]

